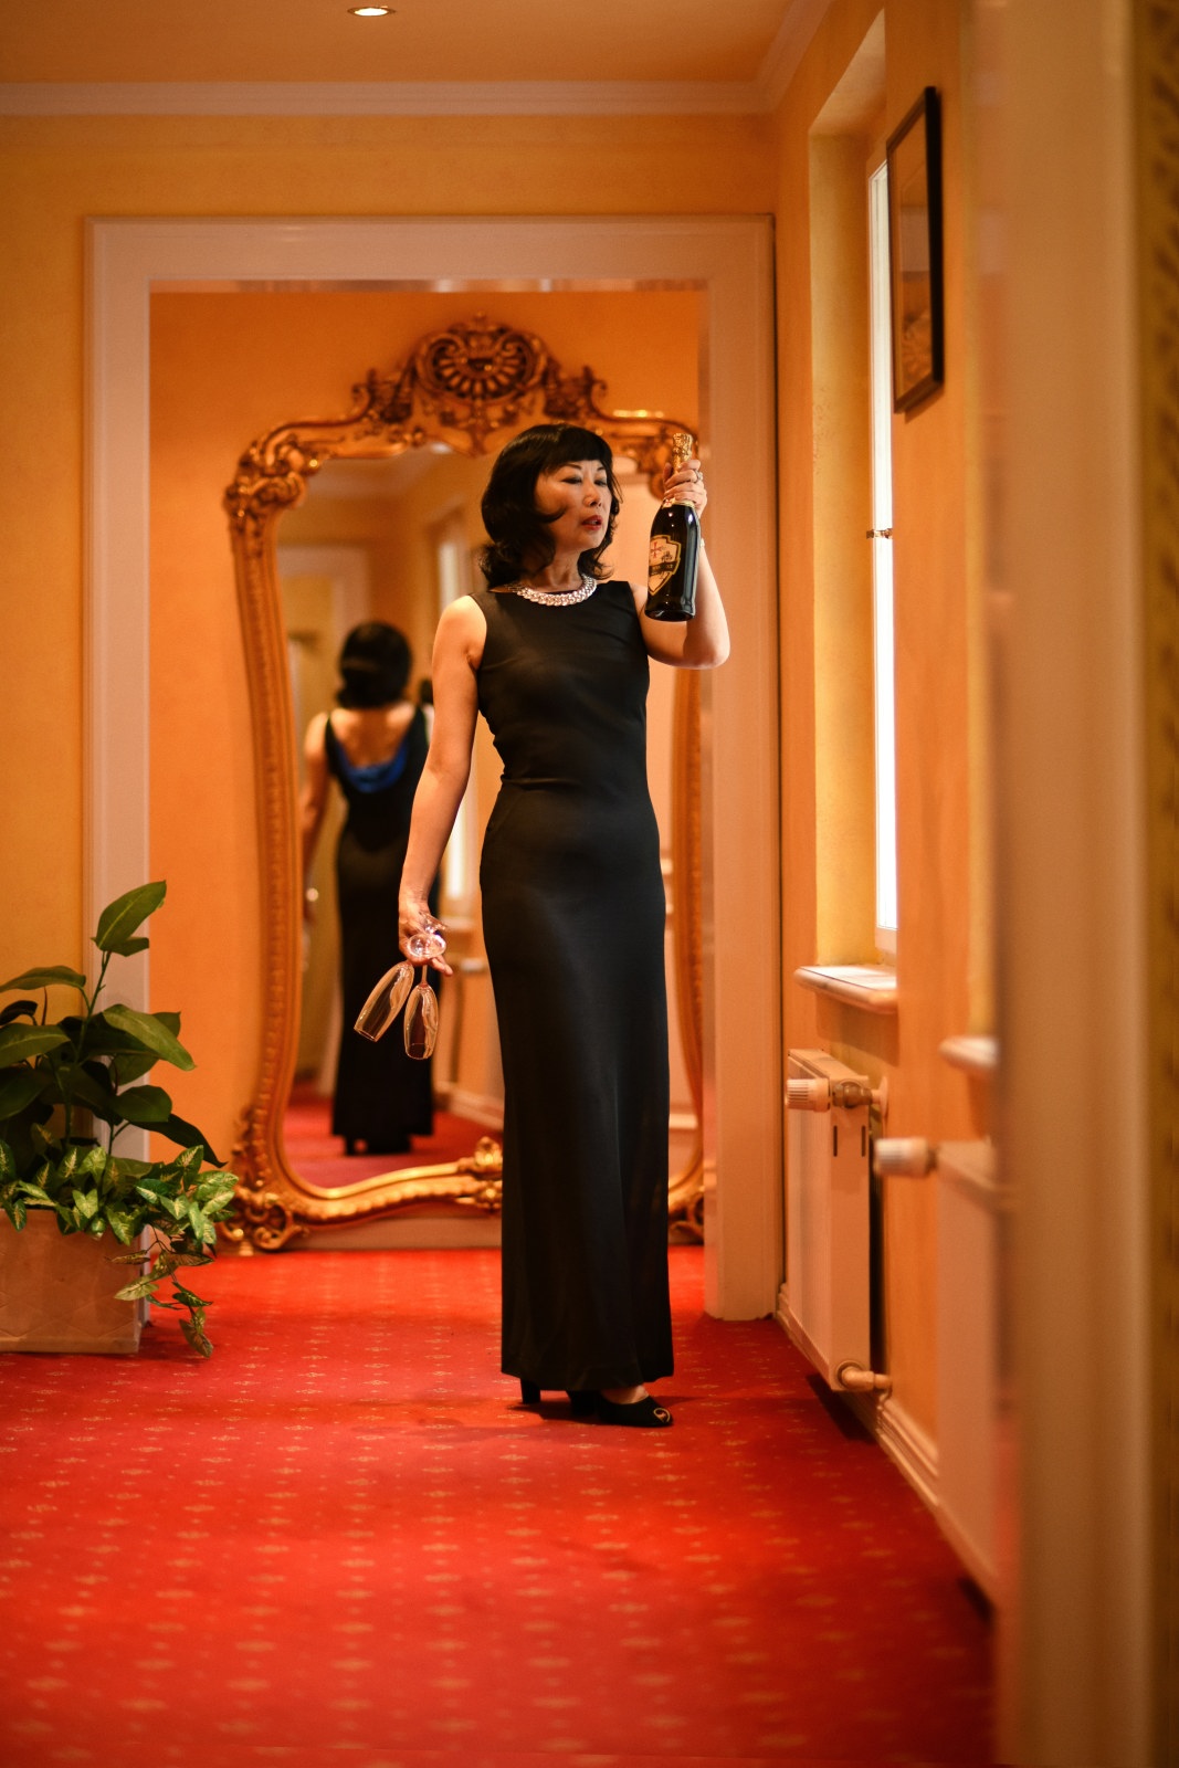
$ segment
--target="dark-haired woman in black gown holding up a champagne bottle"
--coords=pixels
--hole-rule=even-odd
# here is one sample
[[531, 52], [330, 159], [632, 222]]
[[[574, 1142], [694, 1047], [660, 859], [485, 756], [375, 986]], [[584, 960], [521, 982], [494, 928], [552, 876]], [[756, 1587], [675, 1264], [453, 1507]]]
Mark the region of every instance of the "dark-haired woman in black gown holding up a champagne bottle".
[[[704, 509], [698, 461], [668, 490]], [[453, 603], [433, 658], [435, 732], [414, 803], [401, 944], [430, 921], [475, 714], [504, 762], [483, 926], [504, 1059], [502, 1367], [525, 1402], [566, 1388], [603, 1421], [670, 1425], [668, 1041], [659, 834], [647, 790], [649, 658], [721, 663], [702, 555], [696, 619], [642, 619], [606, 582], [610, 449], [571, 424], [509, 442], [483, 500], [488, 587]], [[437, 967], [445, 971], [445, 960]]]

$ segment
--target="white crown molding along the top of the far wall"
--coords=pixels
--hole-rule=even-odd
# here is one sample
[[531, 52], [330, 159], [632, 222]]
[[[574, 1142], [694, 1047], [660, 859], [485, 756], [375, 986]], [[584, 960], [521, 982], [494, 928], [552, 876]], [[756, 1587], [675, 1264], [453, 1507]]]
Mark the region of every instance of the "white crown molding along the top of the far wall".
[[757, 81], [0, 83], [2, 117], [702, 117], [767, 108]]

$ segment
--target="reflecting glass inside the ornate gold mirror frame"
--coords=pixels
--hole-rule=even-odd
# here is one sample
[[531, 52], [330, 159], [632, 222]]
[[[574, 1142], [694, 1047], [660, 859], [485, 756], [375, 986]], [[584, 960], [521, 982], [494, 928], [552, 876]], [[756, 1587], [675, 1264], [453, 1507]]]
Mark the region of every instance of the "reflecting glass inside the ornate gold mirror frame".
[[[438, 879], [437, 912], [456, 971], [442, 994], [438, 1048], [430, 1063], [410, 1063], [399, 1020], [375, 1047], [352, 1029], [357, 1002], [399, 956], [399, 856], [421, 762], [414, 737], [430, 725], [430, 644], [442, 608], [470, 583], [484, 477], [486, 461], [444, 447], [327, 461], [278, 530], [304, 820], [322, 812], [304, 872], [311, 902], [285, 1142], [295, 1172], [316, 1186], [456, 1162], [502, 1130], [495, 1017], [475, 930], [479, 767]], [[348, 633], [377, 621], [410, 645], [403, 698], [385, 709], [387, 720], [338, 707], [327, 735], [323, 714], [341, 693], [341, 647]], [[341, 766], [387, 758], [394, 769], [401, 760], [401, 773], [389, 790], [352, 792], [345, 834]], [[352, 912], [341, 912], [338, 875]]]

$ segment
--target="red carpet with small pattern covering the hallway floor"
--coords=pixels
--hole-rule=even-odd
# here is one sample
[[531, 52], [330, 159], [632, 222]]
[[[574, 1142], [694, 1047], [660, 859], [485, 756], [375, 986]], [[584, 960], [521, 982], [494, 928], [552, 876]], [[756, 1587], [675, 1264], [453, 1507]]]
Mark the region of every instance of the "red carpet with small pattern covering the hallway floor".
[[495, 1252], [224, 1257], [212, 1361], [0, 1358], [0, 1761], [988, 1763], [988, 1627], [672, 1252], [666, 1432], [525, 1411]]

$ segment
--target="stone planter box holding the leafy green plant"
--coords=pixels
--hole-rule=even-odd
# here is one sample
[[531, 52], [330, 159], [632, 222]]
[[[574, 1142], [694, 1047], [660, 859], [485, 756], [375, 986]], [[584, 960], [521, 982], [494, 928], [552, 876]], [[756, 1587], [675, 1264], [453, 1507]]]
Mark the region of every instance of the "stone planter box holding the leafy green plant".
[[110, 1262], [126, 1250], [111, 1234], [58, 1234], [49, 1209], [30, 1209], [19, 1234], [0, 1216], [0, 1351], [133, 1356], [141, 1310], [115, 1291], [134, 1266]]

